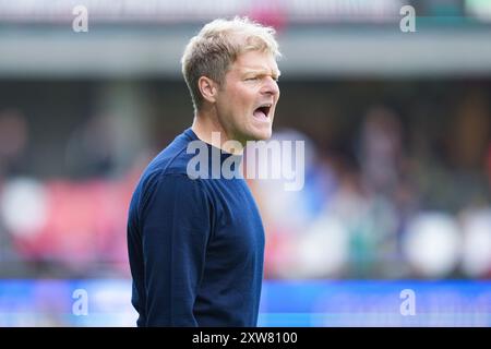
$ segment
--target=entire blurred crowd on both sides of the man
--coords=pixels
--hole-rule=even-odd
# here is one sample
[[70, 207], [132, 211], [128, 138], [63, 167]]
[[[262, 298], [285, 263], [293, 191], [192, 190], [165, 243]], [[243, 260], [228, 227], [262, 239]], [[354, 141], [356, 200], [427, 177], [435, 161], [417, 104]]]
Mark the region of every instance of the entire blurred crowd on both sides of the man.
[[[299, 128], [278, 117], [276, 140], [304, 141], [304, 186], [249, 181], [266, 228], [265, 277], [489, 278], [489, 100], [471, 89], [448, 116], [439, 104], [414, 100], [406, 113], [404, 104], [370, 104], [337, 143], [324, 142], [315, 121]], [[125, 152], [124, 140], [139, 136], [132, 123], [116, 124], [119, 116], [94, 113], [70, 128], [56, 141], [63, 171], [43, 176], [26, 164], [53, 159], [36, 152], [29, 118], [0, 109], [1, 277], [129, 277], [128, 204], [165, 144]]]

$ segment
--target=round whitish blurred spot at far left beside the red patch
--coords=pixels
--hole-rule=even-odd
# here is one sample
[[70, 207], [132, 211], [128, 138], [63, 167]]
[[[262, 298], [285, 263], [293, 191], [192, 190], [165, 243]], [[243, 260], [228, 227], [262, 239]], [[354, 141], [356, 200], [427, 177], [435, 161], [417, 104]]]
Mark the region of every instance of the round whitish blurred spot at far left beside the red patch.
[[43, 184], [33, 179], [14, 179], [4, 185], [0, 207], [7, 229], [27, 238], [46, 222], [47, 194]]

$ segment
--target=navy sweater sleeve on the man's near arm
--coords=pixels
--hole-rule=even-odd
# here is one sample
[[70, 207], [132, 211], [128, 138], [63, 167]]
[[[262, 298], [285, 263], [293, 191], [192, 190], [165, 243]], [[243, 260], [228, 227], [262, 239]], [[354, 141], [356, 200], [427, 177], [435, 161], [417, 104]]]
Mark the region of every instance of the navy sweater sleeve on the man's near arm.
[[211, 236], [203, 183], [160, 176], [142, 212], [147, 326], [197, 326], [193, 304]]

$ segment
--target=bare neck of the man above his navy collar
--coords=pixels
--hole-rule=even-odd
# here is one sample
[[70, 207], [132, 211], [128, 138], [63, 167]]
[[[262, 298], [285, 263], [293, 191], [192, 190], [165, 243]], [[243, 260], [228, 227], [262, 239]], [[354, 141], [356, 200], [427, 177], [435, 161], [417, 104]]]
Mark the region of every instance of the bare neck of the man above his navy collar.
[[[226, 132], [225, 128], [218, 121], [216, 112], [213, 110], [197, 111], [194, 116], [191, 130], [193, 130], [201, 141], [220, 148], [226, 153], [233, 155], [241, 155], [243, 153], [243, 144], [241, 144], [240, 149], [238, 149], [237, 141], [228, 142], [233, 141], [233, 139]], [[218, 134], [214, 135], [214, 132]]]

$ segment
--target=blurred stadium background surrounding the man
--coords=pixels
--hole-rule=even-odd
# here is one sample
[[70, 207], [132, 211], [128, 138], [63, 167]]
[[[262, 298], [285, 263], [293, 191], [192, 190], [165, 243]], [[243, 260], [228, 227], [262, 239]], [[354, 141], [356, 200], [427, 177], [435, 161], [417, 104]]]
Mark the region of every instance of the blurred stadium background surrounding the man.
[[302, 191], [250, 181], [260, 325], [490, 326], [490, 0], [0, 0], [0, 326], [134, 325], [130, 195], [192, 122], [187, 40], [236, 14], [276, 27], [306, 141]]

